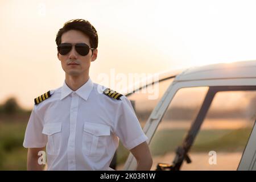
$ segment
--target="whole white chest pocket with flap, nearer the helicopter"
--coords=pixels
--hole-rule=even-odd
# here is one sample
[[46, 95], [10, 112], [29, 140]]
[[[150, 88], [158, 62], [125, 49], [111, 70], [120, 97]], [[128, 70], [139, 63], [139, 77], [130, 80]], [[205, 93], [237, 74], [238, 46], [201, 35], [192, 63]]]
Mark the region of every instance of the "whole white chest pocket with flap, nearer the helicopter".
[[88, 156], [108, 155], [110, 127], [100, 123], [84, 123], [82, 151]]

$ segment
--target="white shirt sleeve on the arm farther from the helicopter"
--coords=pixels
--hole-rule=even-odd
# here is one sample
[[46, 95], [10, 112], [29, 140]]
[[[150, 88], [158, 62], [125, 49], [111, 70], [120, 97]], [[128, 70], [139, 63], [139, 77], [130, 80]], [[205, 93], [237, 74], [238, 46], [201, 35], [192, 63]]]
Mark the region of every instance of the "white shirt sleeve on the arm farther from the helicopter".
[[31, 112], [24, 137], [23, 147], [41, 148], [47, 143], [47, 136], [42, 134], [43, 121], [36, 113], [35, 107]]

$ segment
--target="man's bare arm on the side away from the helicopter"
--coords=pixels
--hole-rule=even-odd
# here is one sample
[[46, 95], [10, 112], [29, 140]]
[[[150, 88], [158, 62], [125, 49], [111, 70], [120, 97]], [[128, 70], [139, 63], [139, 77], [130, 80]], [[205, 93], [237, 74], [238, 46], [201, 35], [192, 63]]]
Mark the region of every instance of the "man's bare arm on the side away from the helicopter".
[[45, 147], [43, 148], [28, 148], [27, 151], [27, 170], [28, 171], [43, 171], [44, 165], [38, 163], [38, 159], [40, 155], [38, 155], [39, 151], [45, 151]]

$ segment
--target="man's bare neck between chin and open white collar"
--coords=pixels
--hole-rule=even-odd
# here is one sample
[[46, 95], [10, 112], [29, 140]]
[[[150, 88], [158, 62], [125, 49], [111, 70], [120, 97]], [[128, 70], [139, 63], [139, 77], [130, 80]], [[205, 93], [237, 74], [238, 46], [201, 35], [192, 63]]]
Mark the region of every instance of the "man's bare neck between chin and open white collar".
[[82, 85], [84, 85], [89, 80], [89, 75], [87, 76], [65, 76], [65, 83], [68, 85], [68, 87], [76, 91], [79, 89]]

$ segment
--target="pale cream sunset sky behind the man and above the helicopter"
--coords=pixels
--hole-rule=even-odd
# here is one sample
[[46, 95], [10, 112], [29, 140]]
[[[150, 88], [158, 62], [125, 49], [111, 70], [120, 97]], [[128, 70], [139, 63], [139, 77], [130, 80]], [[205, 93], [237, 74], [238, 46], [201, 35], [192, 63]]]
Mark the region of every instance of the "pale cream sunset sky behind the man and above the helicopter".
[[245, 0], [0, 1], [0, 103], [15, 96], [31, 109], [35, 97], [63, 85], [55, 36], [70, 19], [98, 31], [90, 77], [101, 82], [113, 69], [128, 75], [254, 60], [255, 9]]

